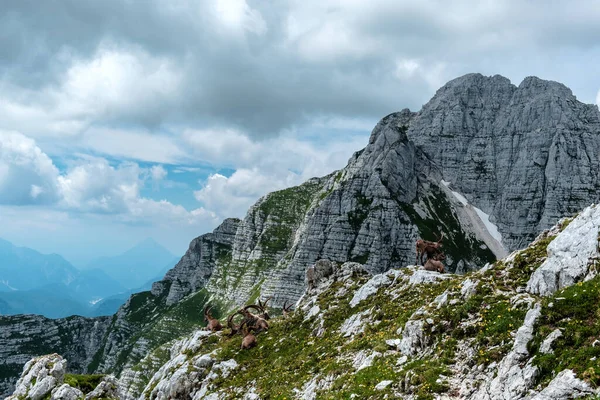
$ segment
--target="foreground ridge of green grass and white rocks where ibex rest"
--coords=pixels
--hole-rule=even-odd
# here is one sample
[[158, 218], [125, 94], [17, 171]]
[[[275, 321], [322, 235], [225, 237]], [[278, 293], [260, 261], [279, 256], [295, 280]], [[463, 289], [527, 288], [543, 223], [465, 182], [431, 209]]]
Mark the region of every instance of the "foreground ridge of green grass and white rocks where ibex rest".
[[273, 315], [252, 349], [197, 329], [119, 379], [65, 374], [68, 358], [48, 354], [7, 400], [597, 399], [599, 230], [594, 205], [464, 275], [320, 260], [295, 310]]

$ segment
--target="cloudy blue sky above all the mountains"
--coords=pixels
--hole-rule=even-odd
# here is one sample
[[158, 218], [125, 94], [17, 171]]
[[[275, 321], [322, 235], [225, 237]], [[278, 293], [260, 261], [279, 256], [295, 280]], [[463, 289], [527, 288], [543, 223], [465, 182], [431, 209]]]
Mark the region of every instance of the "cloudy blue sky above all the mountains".
[[183, 255], [471, 72], [600, 104], [597, 1], [20, 0], [0, 9], [0, 237]]

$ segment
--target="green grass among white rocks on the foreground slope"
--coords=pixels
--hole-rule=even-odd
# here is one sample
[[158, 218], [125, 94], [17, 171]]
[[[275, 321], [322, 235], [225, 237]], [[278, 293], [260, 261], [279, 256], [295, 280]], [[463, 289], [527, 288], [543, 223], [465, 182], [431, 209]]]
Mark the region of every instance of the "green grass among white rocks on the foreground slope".
[[[525, 303], [515, 300], [520, 298], [518, 292], [533, 270], [545, 259], [546, 247], [552, 239], [543, 238], [520, 252], [513, 262], [497, 262], [483, 273], [453, 276], [446, 281], [402, 291], [397, 290], [404, 285], [402, 283], [380, 288], [368, 301], [353, 309], [349, 307], [353, 290], [345, 292], [340, 289], [342, 283], [334, 283], [318, 299], [325, 310], [327, 330], [323, 337], [313, 335], [314, 318], [304, 321], [304, 315], [297, 312], [291, 319], [273, 321], [269, 332], [259, 335], [259, 346], [250, 351], [239, 351], [239, 337], [224, 336], [213, 338], [199, 353], [220, 348], [220, 359], [233, 358], [240, 364], [235, 374], [216, 382], [216, 389], [228, 393], [232, 399], [251, 384], [261, 398], [292, 398], [294, 389], [301, 389], [315, 375], [335, 376], [332, 387], [321, 392], [319, 398], [348, 398], [352, 393], [358, 398], [382, 398], [385, 394], [391, 396], [393, 389], [375, 390], [379, 382], [391, 380], [398, 390], [398, 383], [408, 379], [412, 394], [419, 399], [431, 399], [435, 393], [449, 389], [446, 377], [454, 373], [459, 342], [469, 343], [476, 350], [476, 356], [469, 362], [473, 367], [497, 362], [510, 351], [512, 335], [522, 325], [527, 311]], [[403, 273], [410, 274], [411, 270]], [[366, 279], [356, 276], [351, 289], [358, 288]], [[460, 290], [466, 279], [477, 282], [477, 292], [464, 301]], [[449, 303], [437, 308], [432, 301], [443, 292], [448, 294]], [[458, 302], [452, 305], [452, 299]], [[534, 300], [543, 302], [543, 314], [532, 344], [533, 354], [555, 327], [569, 331], [557, 342], [560, 350], [554, 355], [536, 356], [542, 371], [539, 383], [545, 385], [553, 373], [572, 368], [579, 377], [598, 385], [599, 367], [593, 357], [600, 355], [600, 347], [594, 347], [593, 343], [600, 339], [595, 323], [600, 315], [600, 278], [565, 289], [553, 298]], [[548, 307], [550, 303], [554, 303], [553, 307]], [[354, 340], [342, 337], [338, 329], [343, 321], [369, 309], [377, 322]], [[409, 359], [403, 366], [396, 366], [399, 354], [386, 352], [385, 340], [398, 338], [396, 330], [418, 309], [427, 312], [424, 318], [433, 320], [426, 325], [430, 350], [422, 357]], [[371, 367], [355, 373], [351, 355], [363, 349], [383, 355]]]

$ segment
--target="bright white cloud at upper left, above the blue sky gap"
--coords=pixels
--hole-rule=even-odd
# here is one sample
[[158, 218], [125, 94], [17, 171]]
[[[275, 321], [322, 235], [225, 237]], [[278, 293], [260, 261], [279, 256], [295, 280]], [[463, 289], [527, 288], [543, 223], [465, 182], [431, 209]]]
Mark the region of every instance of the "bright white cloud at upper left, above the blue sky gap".
[[181, 71], [141, 49], [100, 44], [89, 59], [68, 59], [58, 84], [35, 90], [0, 81], [5, 128], [32, 137], [77, 136], [96, 121], [160, 119], [181, 92]]

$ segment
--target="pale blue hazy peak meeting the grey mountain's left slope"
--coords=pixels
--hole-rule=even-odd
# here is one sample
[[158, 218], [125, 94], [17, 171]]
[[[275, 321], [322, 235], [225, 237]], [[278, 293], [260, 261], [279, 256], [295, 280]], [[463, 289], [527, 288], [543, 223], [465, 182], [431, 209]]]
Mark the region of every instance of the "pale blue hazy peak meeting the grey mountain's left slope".
[[123, 254], [94, 260], [86, 269], [100, 269], [124, 288], [135, 289], [161, 275], [165, 265], [172, 263], [172, 267], [173, 260], [174, 254], [148, 238]]

